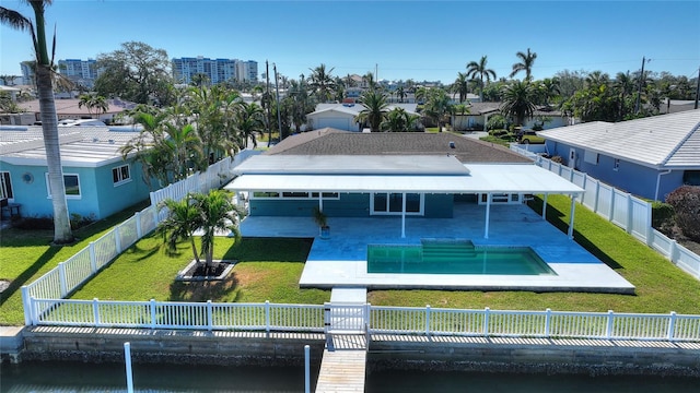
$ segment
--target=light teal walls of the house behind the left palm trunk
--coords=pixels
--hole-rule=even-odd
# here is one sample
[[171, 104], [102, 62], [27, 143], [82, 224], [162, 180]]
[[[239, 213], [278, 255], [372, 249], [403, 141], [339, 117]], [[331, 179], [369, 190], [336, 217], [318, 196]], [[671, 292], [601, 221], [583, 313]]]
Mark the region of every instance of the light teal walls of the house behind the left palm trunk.
[[[65, 166], [63, 174], [78, 175], [80, 181], [80, 196], [67, 196], [69, 214], [102, 219], [148, 199], [149, 189], [141, 180], [139, 164], [129, 163], [131, 181], [115, 187], [112, 169], [125, 164], [119, 160], [98, 168]], [[22, 216], [50, 217], [54, 215], [45, 166], [12, 165], [0, 162], [0, 170], [10, 172], [13, 192], [11, 202], [21, 204]]]

